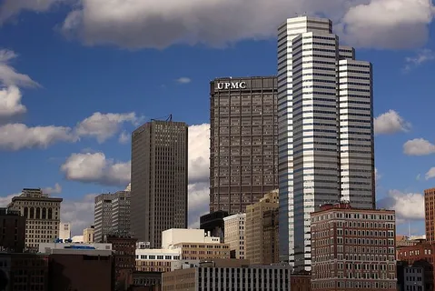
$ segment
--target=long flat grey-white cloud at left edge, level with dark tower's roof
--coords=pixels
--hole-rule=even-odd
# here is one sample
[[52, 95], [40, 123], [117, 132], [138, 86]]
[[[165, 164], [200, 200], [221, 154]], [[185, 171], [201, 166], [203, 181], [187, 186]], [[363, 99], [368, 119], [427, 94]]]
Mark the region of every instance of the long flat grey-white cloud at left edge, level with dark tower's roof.
[[35, 126], [9, 124], [0, 126], [0, 150], [21, 150], [25, 148], [47, 148], [57, 142], [75, 142], [70, 127]]

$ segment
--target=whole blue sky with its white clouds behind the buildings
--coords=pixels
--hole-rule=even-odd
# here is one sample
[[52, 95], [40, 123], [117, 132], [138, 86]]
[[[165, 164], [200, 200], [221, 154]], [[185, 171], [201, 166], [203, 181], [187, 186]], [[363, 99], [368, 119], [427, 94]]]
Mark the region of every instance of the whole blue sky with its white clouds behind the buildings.
[[430, 0], [0, 0], [0, 206], [24, 187], [64, 198], [74, 235], [94, 196], [130, 182], [131, 132], [189, 127], [189, 226], [208, 210], [209, 89], [275, 75], [276, 31], [319, 15], [374, 70], [376, 197], [398, 234], [424, 234], [435, 187]]

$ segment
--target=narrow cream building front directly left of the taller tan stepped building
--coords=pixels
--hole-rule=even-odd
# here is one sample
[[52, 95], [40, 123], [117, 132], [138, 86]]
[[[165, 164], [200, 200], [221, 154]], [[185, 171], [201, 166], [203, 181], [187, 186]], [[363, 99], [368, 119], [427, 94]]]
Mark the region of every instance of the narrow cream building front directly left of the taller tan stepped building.
[[244, 224], [246, 214], [238, 214], [223, 218], [225, 229], [225, 244], [230, 245], [230, 250], [235, 253], [235, 258], [244, 259]]

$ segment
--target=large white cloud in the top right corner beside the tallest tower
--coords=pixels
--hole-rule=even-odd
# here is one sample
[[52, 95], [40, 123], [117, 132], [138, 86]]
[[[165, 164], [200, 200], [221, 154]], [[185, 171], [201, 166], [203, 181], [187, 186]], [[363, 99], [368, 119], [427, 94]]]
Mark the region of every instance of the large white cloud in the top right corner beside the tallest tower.
[[[434, 14], [431, 0], [364, 1], [343, 16], [343, 38], [359, 47], [419, 47], [429, 37]], [[411, 36], [403, 41], [403, 35]]]

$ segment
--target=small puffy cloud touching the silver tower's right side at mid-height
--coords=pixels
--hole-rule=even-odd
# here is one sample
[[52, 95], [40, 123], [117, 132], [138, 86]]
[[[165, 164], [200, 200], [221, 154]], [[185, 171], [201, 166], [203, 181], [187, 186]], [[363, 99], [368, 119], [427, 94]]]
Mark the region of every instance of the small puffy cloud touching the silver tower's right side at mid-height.
[[376, 135], [391, 135], [398, 132], [408, 132], [410, 123], [394, 110], [379, 115], [374, 119], [374, 132]]

